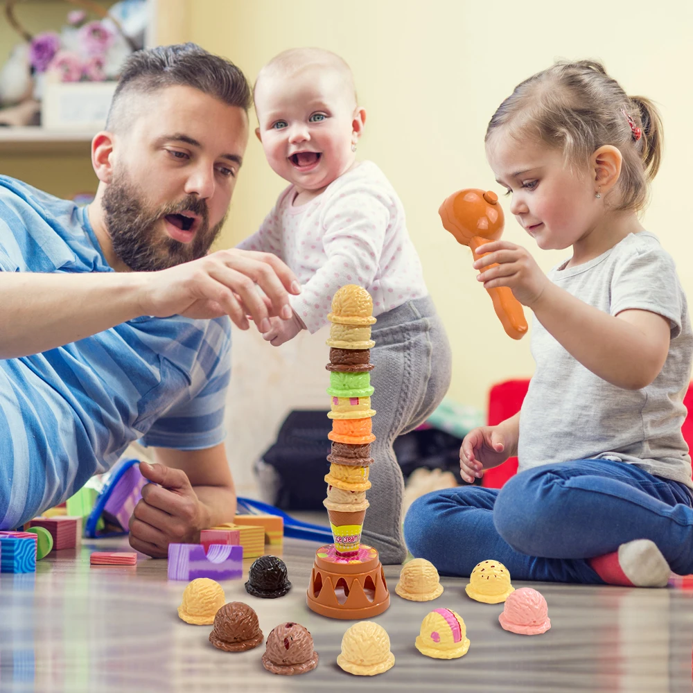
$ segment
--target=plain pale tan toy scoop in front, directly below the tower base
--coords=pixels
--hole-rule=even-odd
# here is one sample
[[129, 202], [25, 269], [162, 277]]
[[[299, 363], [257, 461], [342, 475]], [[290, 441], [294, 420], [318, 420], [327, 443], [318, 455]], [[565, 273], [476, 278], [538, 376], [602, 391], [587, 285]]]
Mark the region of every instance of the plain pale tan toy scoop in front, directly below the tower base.
[[394, 665], [394, 654], [389, 647], [389, 635], [383, 626], [373, 621], [361, 621], [344, 633], [337, 664], [356, 676], [383, 674]]

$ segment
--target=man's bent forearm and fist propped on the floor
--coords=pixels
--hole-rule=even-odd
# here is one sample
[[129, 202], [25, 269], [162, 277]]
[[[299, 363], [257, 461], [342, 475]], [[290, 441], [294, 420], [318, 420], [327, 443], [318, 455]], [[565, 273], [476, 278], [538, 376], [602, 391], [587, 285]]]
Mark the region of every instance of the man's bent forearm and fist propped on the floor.
[[231, 522], [236, 490], [223, 443], [204, 450], [155, 448], [157, 464], [140, 464], [150, 480], [130, 518], [130, 545], [166, 558], [169, 543], [198, 543], [200, 529]]

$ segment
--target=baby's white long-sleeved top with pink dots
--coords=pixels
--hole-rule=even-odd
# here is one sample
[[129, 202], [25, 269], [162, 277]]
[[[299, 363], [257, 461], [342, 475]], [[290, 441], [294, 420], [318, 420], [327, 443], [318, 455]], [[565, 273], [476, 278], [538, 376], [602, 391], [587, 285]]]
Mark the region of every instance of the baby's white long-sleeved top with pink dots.
[[289, 186], [258, 231], [238, 245], [279, 256], [302, 285], [292, 308], [310, 333], [328, 324], [332, 297], [359, 284], [377, 317], [428, 295], [404, 207], [383, 172], [362, 161], [300, 207]]

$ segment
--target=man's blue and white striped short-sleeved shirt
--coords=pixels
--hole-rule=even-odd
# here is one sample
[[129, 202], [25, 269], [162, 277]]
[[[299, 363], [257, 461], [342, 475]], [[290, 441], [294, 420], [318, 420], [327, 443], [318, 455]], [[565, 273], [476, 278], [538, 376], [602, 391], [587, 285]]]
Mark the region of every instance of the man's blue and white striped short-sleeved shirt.
[[[1, 175], [0, 271], [113, 272], [86, 208]], [[145, 316], [0, 359], [0, 529], [69, 498], [134, 440], [179, 450], [219, 444], [230, 336], [227, 317]]]

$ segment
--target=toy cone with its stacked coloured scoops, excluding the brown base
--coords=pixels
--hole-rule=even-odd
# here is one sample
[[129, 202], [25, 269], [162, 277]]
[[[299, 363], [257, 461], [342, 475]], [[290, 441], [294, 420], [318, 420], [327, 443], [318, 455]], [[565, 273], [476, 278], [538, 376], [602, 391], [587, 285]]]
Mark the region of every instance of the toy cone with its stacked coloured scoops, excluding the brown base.
[[371, 482], [368, 473], [373, 458], [371, 443], [376, 437], [371, 432], [369, 362], [373, 299], [356, 284], [342, 286], [332, 299], [332, 312], [327, 316], [332, 323], [330, 339], [330, 387], [332, 396], [332, 454], [328, 456], [330, 472], [325, 477], [327, 498], [324, 505], [330, 518], [337, 553], [347, 555], [358, 552], [361, 528], [369, 505], [366, 491]]

